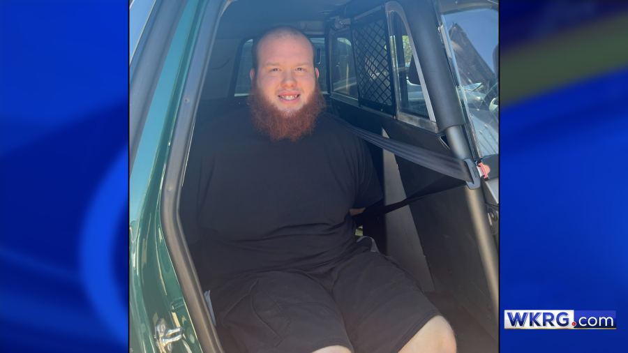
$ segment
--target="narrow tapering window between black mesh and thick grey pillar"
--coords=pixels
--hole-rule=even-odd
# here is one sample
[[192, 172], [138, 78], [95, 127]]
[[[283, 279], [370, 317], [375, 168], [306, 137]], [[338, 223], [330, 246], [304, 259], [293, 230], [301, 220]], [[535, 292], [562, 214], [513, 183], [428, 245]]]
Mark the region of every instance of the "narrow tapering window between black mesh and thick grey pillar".
[[412, 62], [412, 47], [405, 24], [397, 13], [392, 14], [394, 33], [391, 38], [393, 57], [396, 60], [398, 77], [399, 110], [429, 119], [423, 88], [419, 82], [417, 66]]

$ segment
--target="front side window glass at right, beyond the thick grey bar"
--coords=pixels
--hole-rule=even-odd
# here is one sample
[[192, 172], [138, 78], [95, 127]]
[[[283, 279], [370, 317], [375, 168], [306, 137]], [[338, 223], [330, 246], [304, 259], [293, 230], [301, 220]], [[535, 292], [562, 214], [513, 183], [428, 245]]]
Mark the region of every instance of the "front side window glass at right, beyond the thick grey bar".
[[442, 15], [480, 157], [499, 153], [498, 16], [490, 8]]

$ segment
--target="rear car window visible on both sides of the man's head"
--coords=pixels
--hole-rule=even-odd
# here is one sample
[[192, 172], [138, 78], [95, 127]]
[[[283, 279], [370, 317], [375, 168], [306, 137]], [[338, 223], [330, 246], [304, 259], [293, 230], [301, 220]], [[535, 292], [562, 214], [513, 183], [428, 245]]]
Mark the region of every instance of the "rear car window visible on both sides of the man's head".
[[[323, 94], [327, 90], [327, 59], [325, 57], [325, 40], [324, 38], [310, 38], [314, 45], [314, 67], [318, 69], [318, 84]], [[251, 91], [251, 68], [253, 60], [251, 59], [251, 47], [253, 47], [253, 39], [249, 39], [242, 45], [240, 56], [240, 66], [238, 68], [238, 77], [236, 80], [236, 89], [234, 96], [248, 96]]]

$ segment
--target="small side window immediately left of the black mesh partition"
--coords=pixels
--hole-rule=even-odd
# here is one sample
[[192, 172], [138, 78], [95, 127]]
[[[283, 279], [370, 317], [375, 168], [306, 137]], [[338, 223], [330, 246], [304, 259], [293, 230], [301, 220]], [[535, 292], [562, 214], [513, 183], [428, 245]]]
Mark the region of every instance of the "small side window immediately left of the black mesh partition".
[[336, 93], [343, 93], [357, 98], [355, 79], [355, 61], [351, 34], [348, 29], [335, 32], [331, 36], [331, 88]]

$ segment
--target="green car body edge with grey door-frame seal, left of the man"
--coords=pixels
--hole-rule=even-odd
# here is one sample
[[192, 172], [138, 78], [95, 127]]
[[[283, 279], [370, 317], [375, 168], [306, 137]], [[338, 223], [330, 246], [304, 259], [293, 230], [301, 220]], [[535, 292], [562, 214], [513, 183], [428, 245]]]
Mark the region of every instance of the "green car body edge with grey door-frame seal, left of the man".
[[[178, 195], [177, 202], [172, 204], [164, 172], [166, 165], [174, 165], [170, 156], [178, 156], [177, 149], [174, 154], [170, 150], [171, 145], [177, 146], [173, 139], [177, 140], [177, 131], [181, 130], [175, 129], [173, 133], [175, 122], [180, 126], [181, 115], [193, 116], [194, 112], [189, 109], [192, 106], [195, 109], [200, 98], [199, 84], [204, 79], [209, 64], [206, 59], [209, 59], [218, 18], [226, 3], [224, 0], [161, 0], [151, 13], [154, 17], [149, 20], [151, 29], [145, 29], [140, 38], [141, 52], [135, 53], [130, 64], [130, 87], [134, 90], [129, 97], [130, 146], [133, 147], [129, 151], [129, 315], [135, 325], [130, 329], [134, 330], [135, 342], [140, 345], [137, 348], [142, 352], [160, 351], [154, 334], [155, 322], [161, 318], [169, 325], [168, 329], [184, 328], [181, 342], [172, 343], [174, 352], [190, 352], [190, 349], [191, 352], [223, 352], [209, 308], [200, 293], [183, 233], [172, 230], [172, 220], [179, 222], [180, 230], [178, 216], [172, 218], [168, 213], [178, 212]], [[188, 12], [184, 19], [182, 16], [184, 11], [189, 11], [188, 6], [192, 6], [191, 15]], [[179, 27], [184, 36], [176, 39]], [[211, 43], [197, 42], [199, 36], [211, 38]], [[180, 57], [168, 62], [167, 57], [174, 47]], [[164, 96], [162, 92], [156, 96], [158, 81], [166, 71], [170, 76], [174, 73], [172, 81], [167, 81], [168, 85], [172, 84], [167, 86], [172, 94]], [[194, 102], [186, 96], [191, 86], [199, 93]], [[166, 103], [167, 109], [160, 108], [159, 119], [151, 120], [149, 110], [161, 103]], [[190, 134], [192, 127], [193, 122], [189, 124]], [[187, 158], [187, 154], [184, 157]], [[181, 175], [183, 171], [179, 170]], [[154, 253], [148, 254], [147, 246]], [[147, 257], [151, 263], [147, 262]], [[145, 276], [145, 271], [151, 273], [151, 278]], [[147, 292], [144, 287], [147, 280], [160, 281], [163, 288]], [[149, 317], [147, 301], [152, 301], [150, 313], [154, 317]]]

